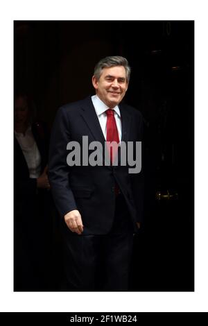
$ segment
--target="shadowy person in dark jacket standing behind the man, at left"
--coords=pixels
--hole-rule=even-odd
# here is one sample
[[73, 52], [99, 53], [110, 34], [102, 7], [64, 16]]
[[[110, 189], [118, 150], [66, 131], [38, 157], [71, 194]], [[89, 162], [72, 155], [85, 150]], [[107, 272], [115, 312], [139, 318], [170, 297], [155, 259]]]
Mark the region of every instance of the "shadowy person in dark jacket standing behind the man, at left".
[[49, 135], [33, 122], [25, 94], [15, 96], [14, 290], [51, 289], [53, 223], [47, 175]]

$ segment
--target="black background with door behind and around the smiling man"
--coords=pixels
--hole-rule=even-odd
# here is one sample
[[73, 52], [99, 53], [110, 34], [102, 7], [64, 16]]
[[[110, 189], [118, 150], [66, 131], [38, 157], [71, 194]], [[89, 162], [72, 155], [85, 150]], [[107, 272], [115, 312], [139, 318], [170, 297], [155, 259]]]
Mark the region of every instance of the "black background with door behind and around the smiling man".
[[49, 128], [60, 105], [94, 94], [98, 60], [128, 58], [125, 101], [144, 116], [146, 180], [130, 291], [193, 291], [194, 22], [14, 22], [14, 49], [15, 91]]

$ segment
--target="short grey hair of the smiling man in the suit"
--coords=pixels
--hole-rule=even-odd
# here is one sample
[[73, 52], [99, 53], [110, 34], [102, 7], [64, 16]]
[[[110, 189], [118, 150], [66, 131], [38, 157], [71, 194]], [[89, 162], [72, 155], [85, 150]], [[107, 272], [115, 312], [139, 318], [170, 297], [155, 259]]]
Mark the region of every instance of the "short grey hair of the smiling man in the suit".
[[131, 68], [130, 65], [128, 64], [128, 60], [126, 60], [125, 58], [119, 55], [112, 55], [109, 57], [105, 57], [96, 64], [96, 66], [94, 67], [94, 76], [96, 80], [99, 80], [99, 78], [101, 77], [103, 68], [114, 67], [114, 66], [123, 66], [125, 68], [125, 75], [128, 83], [130, 80]]

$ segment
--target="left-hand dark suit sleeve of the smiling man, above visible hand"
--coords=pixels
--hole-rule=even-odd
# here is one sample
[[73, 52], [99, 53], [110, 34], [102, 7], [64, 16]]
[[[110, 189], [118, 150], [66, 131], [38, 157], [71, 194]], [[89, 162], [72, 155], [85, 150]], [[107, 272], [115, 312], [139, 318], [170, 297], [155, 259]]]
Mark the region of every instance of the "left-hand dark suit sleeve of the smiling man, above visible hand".
[[69, 185], [70, 167], [67, 165], [67, 144], [70, 127], [65, 108], [60, 108], [55, 117], [49, 146], [49, 181], [55, 206], [61, 217], [77, 209]]

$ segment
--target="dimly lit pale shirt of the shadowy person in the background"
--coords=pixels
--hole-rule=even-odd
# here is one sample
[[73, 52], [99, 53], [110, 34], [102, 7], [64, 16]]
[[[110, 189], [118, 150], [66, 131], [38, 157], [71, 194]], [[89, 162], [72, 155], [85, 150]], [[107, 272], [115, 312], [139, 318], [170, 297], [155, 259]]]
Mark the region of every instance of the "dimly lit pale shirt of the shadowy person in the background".
[[26, 159], [30, 178], [39, 178], [41, 173], [41, 156], [31, 126], [28, 127], [25, 134], [15, 131], [15, 137]]

